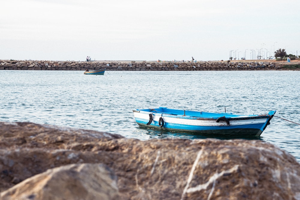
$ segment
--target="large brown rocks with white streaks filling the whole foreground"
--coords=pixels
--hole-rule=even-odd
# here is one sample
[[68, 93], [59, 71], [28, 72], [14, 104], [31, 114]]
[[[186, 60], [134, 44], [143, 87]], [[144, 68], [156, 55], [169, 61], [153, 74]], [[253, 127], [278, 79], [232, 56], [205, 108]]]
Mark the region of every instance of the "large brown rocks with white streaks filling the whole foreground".
[[0, 122], [0, 199], [300, 199], [300, 164], [260, 140], [126, 139]]

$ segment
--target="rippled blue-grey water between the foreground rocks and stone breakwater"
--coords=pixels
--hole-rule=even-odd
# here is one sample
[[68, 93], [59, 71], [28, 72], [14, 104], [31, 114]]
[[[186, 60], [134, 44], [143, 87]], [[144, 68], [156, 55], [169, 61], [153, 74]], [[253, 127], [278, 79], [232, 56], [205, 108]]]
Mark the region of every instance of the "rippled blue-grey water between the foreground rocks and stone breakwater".
[[[159, 106], [265, 114], [300, 123], [299, 71], [0, 70], [0, 121], [30, 121], [117, 133], [127, 138], [206, 138], [140, 128], [133, 109]], [[223, 138], [229, 139], [229, 138]], [[300, 161], [300, 126], [274, 117], [260, 139]]]

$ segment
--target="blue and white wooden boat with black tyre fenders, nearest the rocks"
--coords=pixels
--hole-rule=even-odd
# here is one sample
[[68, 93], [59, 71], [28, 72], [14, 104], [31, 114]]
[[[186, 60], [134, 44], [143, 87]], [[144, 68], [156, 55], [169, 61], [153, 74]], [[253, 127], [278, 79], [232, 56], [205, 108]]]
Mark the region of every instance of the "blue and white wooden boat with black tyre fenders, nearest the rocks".
[[228, 112], [200, 112], [165, 107], [136, 109], [133, 112], [137, 124], [142, 127], [226, 136], [260, 136], [270, 124], [276, 110], [262, 115], [234, 115]]

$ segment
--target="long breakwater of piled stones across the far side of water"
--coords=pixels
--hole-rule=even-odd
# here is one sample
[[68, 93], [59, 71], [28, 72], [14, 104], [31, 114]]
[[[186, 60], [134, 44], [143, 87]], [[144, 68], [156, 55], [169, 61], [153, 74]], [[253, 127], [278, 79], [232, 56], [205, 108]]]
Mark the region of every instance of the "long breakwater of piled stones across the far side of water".
[[123, 70], [123, 71], [207, 71], [207, 70], [282, 70], [272, 62], [76, 62], [0, 60], [0, 70]]

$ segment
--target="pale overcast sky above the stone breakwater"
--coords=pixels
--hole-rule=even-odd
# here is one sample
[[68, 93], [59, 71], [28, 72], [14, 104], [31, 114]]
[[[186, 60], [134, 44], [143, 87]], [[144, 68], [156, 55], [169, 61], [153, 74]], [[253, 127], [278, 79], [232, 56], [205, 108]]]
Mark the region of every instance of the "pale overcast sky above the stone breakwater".
[[300, 55], [299, 0], [1, 0], [0, 7], [0, 59], [209, 61], [279, 48]]

